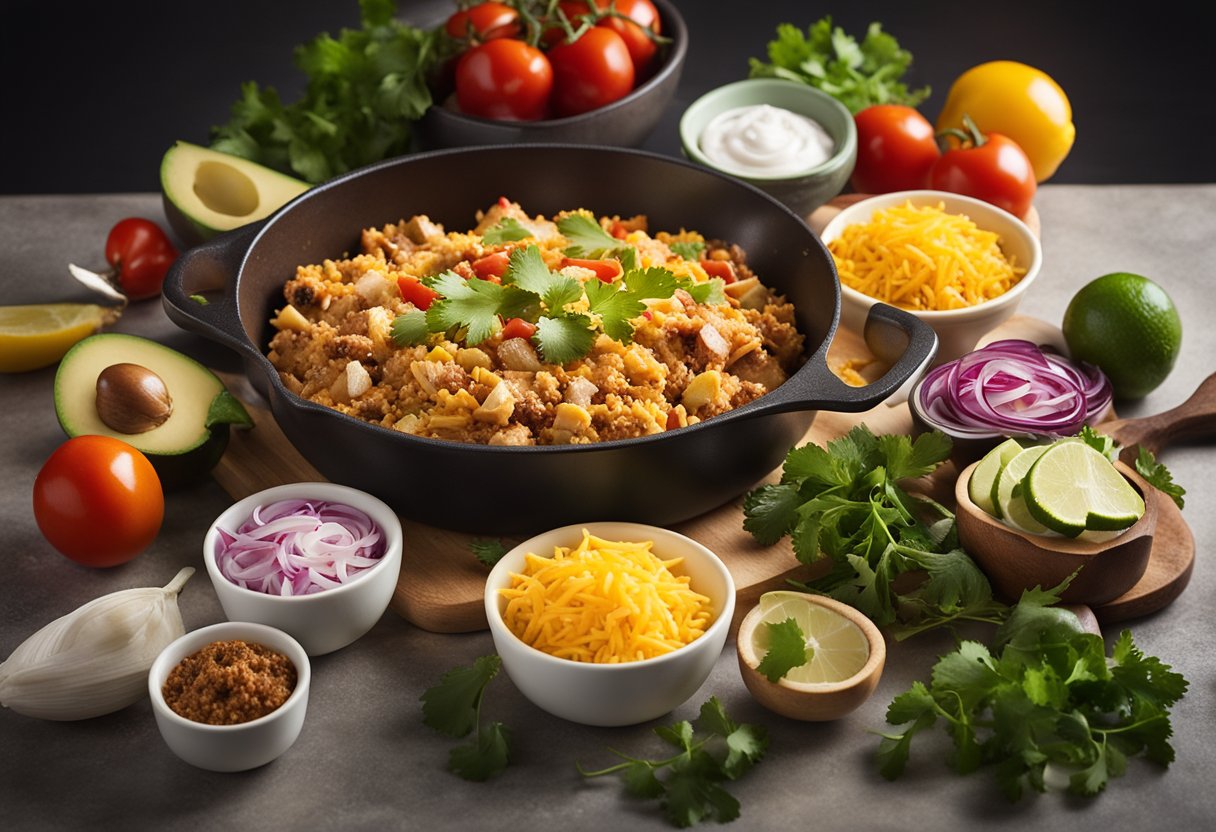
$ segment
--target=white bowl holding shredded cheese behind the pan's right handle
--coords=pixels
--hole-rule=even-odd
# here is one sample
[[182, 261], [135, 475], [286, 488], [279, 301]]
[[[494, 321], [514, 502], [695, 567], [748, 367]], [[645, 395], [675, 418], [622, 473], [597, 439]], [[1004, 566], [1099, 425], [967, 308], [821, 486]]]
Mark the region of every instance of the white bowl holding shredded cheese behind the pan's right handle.
[[[998, 324], [1010, 317], [1021, 303], [1021, 297], [1035, 282], [1042, 265], [1043, 253], [1038, 237], [1020, 219], [993, 204], [958, 193], [946, 191], [895, 191], [860, 199], [844, 208], [832, 218], [820, 238], [828, 244], [840, 236], [845, 226], [869, 221], [876, 210], [902, 206], [911, 202], [914, 207], [942, 204], [950, 214], [966, 214], [981, 229], [995, 231], [1001, 236], [1001, 249], [1006, 257], [1013, 257], [1026, 274], [1004, 294], [969, 307], [945, 311], [911, 310], [913, 315], [928, 324], [938, 333], [936, 361], [950, 361], [969, 353], [975, 343]], [[840, 324], [854, 332], [862, 332], [869, 308], [878, 303], [868, 294], [840, 286]]]

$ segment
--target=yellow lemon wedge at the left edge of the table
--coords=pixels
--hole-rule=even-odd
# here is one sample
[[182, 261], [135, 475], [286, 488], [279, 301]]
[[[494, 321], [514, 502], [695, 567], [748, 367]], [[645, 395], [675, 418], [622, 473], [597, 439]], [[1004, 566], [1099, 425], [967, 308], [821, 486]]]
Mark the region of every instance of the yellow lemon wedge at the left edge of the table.
[[117, 308], [91, 303], [0, 307], [0, 372], [50, 366], [119, 314]]

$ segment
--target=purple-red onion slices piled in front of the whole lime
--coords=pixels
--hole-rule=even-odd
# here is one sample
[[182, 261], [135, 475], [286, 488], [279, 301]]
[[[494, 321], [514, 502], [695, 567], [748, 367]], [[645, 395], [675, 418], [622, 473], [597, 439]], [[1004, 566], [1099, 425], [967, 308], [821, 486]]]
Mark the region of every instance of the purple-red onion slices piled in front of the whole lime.
[[917, 405], [927, 421], [961, 437], [1069, 437], [1110, 407], [1110, 380], [1029, 341], [995, 341], [925, 373]]

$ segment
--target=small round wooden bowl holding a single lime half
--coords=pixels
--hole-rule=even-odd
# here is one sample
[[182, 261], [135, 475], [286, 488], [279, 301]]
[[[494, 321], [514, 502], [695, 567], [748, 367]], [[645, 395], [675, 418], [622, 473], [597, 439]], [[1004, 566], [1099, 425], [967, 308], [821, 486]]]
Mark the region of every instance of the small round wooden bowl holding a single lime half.
[[878, 626], [849, 605], [822, 595], [807, 595], [807, 601], [833, 609], [861, 628], [869, 645], [869, 658], [866, 664], [849, 679], [835, 684], [804, 685], [788, 679], [769, 681], [756, 670], [759, 658], [750, 654], [745, 647], [760, 624], [761, 612], [756, 605], [744, 615], [736, 636], [739, 674], [751, 696], [773, 713], [805, 721], [840, 719], [856, 710], [874, 693], [878, 680], [883, 676], [883, 665], [886, 663], [886, 642]]

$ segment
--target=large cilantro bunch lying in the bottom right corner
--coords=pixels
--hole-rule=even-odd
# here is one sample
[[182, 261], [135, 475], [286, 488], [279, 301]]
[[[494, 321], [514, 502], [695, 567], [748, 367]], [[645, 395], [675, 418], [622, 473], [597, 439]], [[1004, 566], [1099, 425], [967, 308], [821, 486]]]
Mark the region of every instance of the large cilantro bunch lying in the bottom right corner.
[[1066, 772], [1069, 792], [1093, 796], [1124, 774], [1128, 757], [1173, 761], [1170, 707], [1187, 680], [1144, 656], [1127, 630], [1108, 657], [1100, 636], [1052, 606], [1066, 584], [1024, 592], [993, 650], [964, 641], [934, 665], [928, 685], [895, 697], [886, 721], [907, 727], [883, 735], [884, 777], [900, 776], [913, 737], [939, 719], [953, 740], [952, 768], [991, 768], [1010, 800], [1028, 786], [1046, 791], [1048, 768]]

